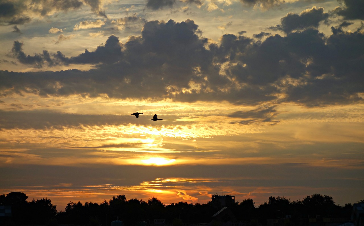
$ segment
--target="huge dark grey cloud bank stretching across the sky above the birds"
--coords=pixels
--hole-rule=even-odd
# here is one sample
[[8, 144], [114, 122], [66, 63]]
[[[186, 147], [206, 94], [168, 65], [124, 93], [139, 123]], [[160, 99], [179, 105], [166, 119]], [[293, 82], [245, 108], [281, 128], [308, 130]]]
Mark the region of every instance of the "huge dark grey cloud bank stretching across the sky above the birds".
[[[320, 8], [304, 12], [326, 18]], [[302, 19], [305, 13], [298, 17]], [[283, 23], [286, 18], [282, 18]], [[97, 68], [29, 73], [1, 71], [1, 95], [96, 97], [106, 94], [116, 98], [173, 98], [185, 102], [230, 101], [252, 105], [286, 101], [307, 106], [361, 101], [358, 93], [364, 91], [361, 85], [364, 34], [361, 28], [344, 32], [338, 27], [332, 28], [332, 35], [327, 37], [312, 28], [321, 19], [305, 26], [298, 20], [296, 28], [305, 29], [288, 29], [286, 36], [261, 33], [268, 37], [256, 41], [244, 33], [226, 34], [219, 44], [208, 44], [206, 38], [200, 38], [198, 25], [192, 20], [150, 21], [145, 23], [141, 36], [131, 36], [125, 44], [118, 37], [110, 36], [95, 51], [86, 50], [70, 58], [61, 52], [47, 51], [29, 56], [23, 52], [23, 44], [15, 42], [12, 54], [21, 63], [36, 67], [44, 63], [49, 66], [91, 63]], [[265, 119], [269, 121], [268, 116], [260, 120]]]

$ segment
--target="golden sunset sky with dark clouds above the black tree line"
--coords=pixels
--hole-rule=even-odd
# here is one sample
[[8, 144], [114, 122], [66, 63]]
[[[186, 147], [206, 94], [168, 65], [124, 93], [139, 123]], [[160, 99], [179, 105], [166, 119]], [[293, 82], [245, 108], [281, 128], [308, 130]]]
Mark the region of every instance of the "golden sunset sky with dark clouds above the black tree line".
[[356, 203], [363, 22], [363, 0], [1, 0], [0, 193]]

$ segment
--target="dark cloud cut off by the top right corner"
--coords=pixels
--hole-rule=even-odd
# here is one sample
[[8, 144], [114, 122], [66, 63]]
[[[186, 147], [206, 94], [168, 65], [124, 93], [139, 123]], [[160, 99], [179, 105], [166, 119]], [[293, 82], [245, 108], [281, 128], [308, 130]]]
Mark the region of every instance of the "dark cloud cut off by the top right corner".
[[339, 16], [347, 20], [364, 20], [364, 1], [363, 0], [343, 0], [345, 6], [337, 7], [333, 10]]

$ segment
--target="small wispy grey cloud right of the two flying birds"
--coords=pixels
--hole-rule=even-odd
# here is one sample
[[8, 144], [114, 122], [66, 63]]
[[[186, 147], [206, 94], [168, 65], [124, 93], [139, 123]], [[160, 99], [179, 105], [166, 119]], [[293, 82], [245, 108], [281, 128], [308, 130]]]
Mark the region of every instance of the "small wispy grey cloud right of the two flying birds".
[[240, 124], [258, 124], [262, 122], [269, 122], [270, 124], [276, 124], [279, 121], [273, 121], [272, 118], [276, 116], [278, 113], [273, 106], [270, 107], [259, 107], [254, 110], [249, 111], [238, 111], [233, 114], [228, 115], [233, 118], [244, 118], [243, 121], [238, 123]]

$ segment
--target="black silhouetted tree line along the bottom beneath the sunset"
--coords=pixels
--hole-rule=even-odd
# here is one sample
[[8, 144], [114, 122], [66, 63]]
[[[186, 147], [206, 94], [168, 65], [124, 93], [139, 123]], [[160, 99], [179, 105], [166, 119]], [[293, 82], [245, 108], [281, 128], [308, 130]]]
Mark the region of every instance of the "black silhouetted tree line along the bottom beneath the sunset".
[[[212, 197], [213, 198], [213, 197]], [[64, 211], [56, 211], [50, 199], [27, 201], [28, 196], [22, 192], [10, 192], [0, 195], [0, 206], [12, 206], [12, 217], [2, 218], [5, 226], [17, 225], [110, 225], [117, 218], [124, 225], [138, 225], [139, 221], [154, 224], [154, 219], [165, 219], [166, 223], [182, 225], [183, 223], [209, 223], [212, 215], [223, 206], [218, 199], [207, 203], [178, 202], [163, 204], [158, 198], [148, 200], [126, 199], [125, 195], [113, 196], [102, 203], [69, 202]], [[364, 199], [358, 202], [363, 202]], [[248, 221], [251, 226], [266, 223], [267, 219], [285, 218], [290, 215], [290, 222], [301, 221], [308, 217], [350, 218], [352, 204], [336, 205], [328, 195], [313, 194], [303, 200], [291, 201], [283, 196], [270, 196], [267, 202], [255, 205], [253, 199], [227, 203], [237, 220]]]

